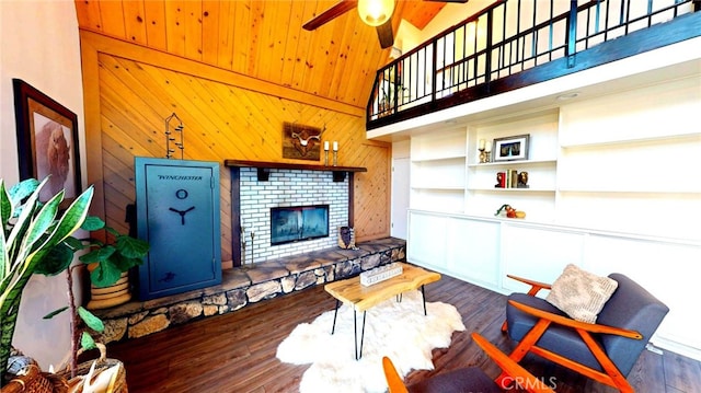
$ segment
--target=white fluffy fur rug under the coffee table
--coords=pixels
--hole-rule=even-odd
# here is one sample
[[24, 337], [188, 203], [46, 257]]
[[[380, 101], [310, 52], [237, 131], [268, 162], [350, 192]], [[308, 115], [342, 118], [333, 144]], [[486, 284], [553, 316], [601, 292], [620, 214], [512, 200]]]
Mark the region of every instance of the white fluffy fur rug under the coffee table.
[[[433, 348], [447, 348], [453, 331], [464, 331], [453, 305], [435, 302], [424, 308], [420, 291], [406, 292], [402, 301], [380, 303], [367, 312], [363, 358], [355, 360], [353, 309], [338, 309], [336, 330], [331, 335], [333, 310], [311, 324], [299, 324], [277, 347], [277, 358], [287, 363], [307, 365], [300, 393], [386, 392], [382, 356], [388, 356], [403, 375], [412, 369], [432, 370]], [[357, 313], [358, 342], [363, 313]]]

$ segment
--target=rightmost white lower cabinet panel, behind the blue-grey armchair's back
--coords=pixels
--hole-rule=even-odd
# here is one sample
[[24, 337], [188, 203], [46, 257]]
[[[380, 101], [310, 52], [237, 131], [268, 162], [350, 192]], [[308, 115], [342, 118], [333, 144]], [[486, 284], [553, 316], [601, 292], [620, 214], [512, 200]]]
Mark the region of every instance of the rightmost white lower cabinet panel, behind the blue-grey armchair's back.
[[604, 275], [622, 273], [667, 304], [669, 313], [653, 342], [701, 359], [701, 336], [696, 323], [700, 263], [699, 245], [591, 235], [584, 266]]

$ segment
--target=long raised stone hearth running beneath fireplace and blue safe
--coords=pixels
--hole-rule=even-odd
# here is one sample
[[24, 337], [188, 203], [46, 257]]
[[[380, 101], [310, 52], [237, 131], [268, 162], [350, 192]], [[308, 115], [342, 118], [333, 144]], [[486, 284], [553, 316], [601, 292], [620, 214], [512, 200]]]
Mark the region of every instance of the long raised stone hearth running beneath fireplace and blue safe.
[[386, 238], [226, 269], [221, 285], [94, 313], [105, 323], [104, 343], [137, 338], [170, 326], [225, 314], [258, 301], [359, 275], [404, 261], [406, 242]]

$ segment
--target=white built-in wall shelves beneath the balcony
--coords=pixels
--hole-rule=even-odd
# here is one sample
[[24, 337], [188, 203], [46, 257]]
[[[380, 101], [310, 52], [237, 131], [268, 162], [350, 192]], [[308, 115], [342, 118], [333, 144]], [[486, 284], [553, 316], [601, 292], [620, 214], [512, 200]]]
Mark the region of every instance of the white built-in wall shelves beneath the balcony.
[[[646, 96], [679, 104], [694, 88], [691, 80], [671, 85], [677, 94], [651, 86]], [[533, 223], [688, 238], [685, 221], [701, 220], [701, 182], [692, 180], [701, 167], [701, 132], [674, 122], [682, 117], [680, 108], [691, 111], [686, 104], [669, 109], [635, 95], [641, 103], [632, 109], [627, 103], [633, 95], [412, 137], [410, 207], [491, 218], [507, 204]], [[480, 162], [481, 141], [521, 135], [529, 136], [527, 159]], [[528, 187], [496, 187], [497, 173], [508, 171], [527, 172]], [[663, 232], [651, 220], [677, 226]]]

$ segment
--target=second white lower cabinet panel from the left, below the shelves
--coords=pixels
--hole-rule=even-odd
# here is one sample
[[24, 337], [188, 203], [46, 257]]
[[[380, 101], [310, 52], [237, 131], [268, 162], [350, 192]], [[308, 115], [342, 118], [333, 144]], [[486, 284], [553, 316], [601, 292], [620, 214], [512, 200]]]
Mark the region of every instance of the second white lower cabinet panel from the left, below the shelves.
[[499, 222], [458, 217], [448, 220], [447, 268], [458, 278], [497, 289]]

